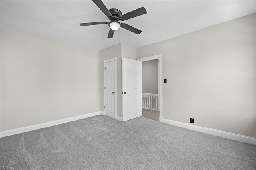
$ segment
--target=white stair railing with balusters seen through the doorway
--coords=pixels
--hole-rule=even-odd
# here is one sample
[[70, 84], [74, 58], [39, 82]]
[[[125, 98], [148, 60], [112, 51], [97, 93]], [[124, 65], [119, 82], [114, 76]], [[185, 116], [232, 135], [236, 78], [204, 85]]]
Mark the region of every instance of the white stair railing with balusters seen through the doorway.
[[142, 108], [158, 111], [158, 94], [142, 93]]

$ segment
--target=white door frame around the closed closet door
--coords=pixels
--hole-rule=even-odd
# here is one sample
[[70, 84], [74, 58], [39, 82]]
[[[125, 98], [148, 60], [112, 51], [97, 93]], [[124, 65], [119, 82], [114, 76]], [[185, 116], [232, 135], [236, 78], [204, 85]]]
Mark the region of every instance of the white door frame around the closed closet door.
[[104, 88], [106, 86], [106, 70], [104, 68], [106, 67], [106, 63], [110, 61], [115, 61], [115, 119], [117, 119], [117, 57], [106, 59], [103, 61], [103, 115], [106, 115], [106, 109], [104, 108], [104, 106], [106, 106], [106, 92]]

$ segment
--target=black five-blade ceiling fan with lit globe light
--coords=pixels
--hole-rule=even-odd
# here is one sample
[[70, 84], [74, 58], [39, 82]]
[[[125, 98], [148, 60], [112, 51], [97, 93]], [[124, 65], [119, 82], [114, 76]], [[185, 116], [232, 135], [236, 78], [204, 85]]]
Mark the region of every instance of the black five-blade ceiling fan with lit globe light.
[[108, 24], [108, 26], [110, 27], [109, 32], [108, 32], [108, 38], [112, 38], [114, 35], [114, 32], [116, 30], [118, 30], [120, 27], [129, 30], [131, 32], [134, 32], [135, 34], [140, 34], [142, 31], [138, 30], [137, 28], [134, 28], [128, 24], [125, 23], [120, 23], [118, 22], [119, 20], [121, 21], [125, 21], [128, 20], [130, 18], [134, 18], [136, 16], [140, 16], [143, 14], [146, 14], [147, 11], [144, 7], [138, 8], [134, 11], [128, 12], [124, 15], [122, 15], [122, 12], [118, 9], [112, 8], [109, 9], [106, 8], [106, 6], [103, 4], [103, 2], [101, 0], [92, 0], [94, 2], [94, 4], [96, 4], [100, 10], [102, 10], [102, 12], [108, 17], [108, 19], [110, 20], [110, 22], [88, 22], [88, 23], [81, 23], [80, 26], [91, 26], [91, 25], [98, 25], [98, 24]]

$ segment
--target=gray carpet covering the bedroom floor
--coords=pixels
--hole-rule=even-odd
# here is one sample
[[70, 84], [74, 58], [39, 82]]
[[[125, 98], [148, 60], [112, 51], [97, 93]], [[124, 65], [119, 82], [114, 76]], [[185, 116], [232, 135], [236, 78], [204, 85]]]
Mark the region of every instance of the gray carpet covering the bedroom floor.
[[23, 169], [256, 169], [256, 146], [136, 118], [94, 116], [1, 138], [1, 166]]

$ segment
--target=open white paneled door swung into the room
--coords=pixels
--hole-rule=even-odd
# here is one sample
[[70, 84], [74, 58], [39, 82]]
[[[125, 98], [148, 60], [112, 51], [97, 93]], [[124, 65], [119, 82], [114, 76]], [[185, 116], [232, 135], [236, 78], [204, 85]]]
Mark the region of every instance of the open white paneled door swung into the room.
[[122, 121], [142, 116], [142, 62], [122, 58]]

